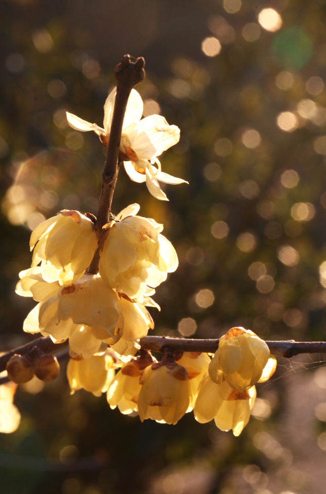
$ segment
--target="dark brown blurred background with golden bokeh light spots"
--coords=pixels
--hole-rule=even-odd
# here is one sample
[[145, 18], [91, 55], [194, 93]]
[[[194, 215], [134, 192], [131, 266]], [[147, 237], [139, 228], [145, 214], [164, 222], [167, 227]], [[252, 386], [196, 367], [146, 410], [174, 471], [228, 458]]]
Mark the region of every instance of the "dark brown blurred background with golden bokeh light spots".
[[[125, 53], [144, 56], [144, 115], [181, 128], [163, 171], [170, 202], [119, 173], [113, 212], [138, 202], [180, 266], [157, 289], [153, 334], [326, 340], [325, 0], [2, 0], [0, 350], [29, 341], [35, 303], [14, 293], [29, 235], [62, 208], [96, 213], [102, 125]], [[163, 184], [164, 186], [164, 184]], [[19, 387], [0, 434], [6, 494], [324, 494], [325, 356], [279, 360], [239, 438], [111, 411], [106, 397]]]

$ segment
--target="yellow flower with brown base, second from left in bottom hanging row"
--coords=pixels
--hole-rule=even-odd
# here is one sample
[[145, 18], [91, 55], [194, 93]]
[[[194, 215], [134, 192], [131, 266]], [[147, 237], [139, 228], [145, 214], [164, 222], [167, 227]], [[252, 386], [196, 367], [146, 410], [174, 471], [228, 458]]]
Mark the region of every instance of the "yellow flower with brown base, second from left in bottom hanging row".
[[128, 414], [137, 411], [137, 401], [142, 385], [139, 378], [142, 371], [156, 360], [147, 350], [141, 350], [139, 357], [124, 364], [112, 380], [107, 399], [111, 409], [118, 407], [121, 413]]

